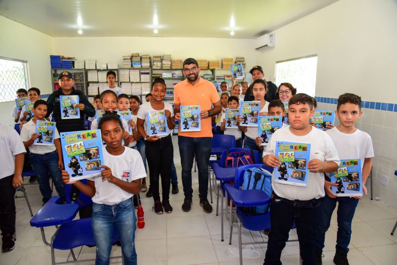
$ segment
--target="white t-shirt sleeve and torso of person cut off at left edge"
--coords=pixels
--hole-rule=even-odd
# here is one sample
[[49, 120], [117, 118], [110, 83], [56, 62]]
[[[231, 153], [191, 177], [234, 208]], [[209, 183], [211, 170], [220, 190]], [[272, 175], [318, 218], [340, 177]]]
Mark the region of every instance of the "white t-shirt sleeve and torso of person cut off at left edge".
[[26, 153], [25, 146], [14, 128], [0, 124], [0, 179], [15, 173], [15, 155]]

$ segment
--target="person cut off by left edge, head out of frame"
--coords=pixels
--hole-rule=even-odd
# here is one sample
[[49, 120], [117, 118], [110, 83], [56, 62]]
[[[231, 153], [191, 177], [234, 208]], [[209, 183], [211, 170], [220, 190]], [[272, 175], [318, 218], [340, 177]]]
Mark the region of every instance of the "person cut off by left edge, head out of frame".
[[[10, 126], [0, 124], [0, 229], [1, 252], [14, 249], [15, 189], [23, 184], [22, 168], [26, 152], [18, 133]], [[4, 258], [2, 258], [3, 260]]]

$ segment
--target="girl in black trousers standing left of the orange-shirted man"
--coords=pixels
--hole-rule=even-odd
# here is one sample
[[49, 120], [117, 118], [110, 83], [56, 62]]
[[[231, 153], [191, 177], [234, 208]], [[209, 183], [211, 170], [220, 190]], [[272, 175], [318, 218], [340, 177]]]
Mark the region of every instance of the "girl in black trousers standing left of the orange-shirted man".
[[[157, 214], [172, 212], [170, 204], [170, 183], [171, 183], [171, 164], [174, 157], [174, 147], [172, 145], [170, 132], [167, 135], [148, 136], [149, 127], [147, 113], [151, 111], [164, 110], [167, 118], [167, 125], [170, 130], [174, 129], [174, 110], [172, 105], [163, 102], [166, 91], [166, 84], [163, 78], [155, 78], [152, 83], [151, 93], [153, 98], [140, 106], [138, 111], [137, 127], [140, 135], [146, 142], [146, 158], [149, 165], [150, 189], [153, 193], [154, 212]], [[163, 200], [160, 201], [159, 177], [161, 175], [161, 190]], [[164, 207], [164, 209], [163, 209]]]

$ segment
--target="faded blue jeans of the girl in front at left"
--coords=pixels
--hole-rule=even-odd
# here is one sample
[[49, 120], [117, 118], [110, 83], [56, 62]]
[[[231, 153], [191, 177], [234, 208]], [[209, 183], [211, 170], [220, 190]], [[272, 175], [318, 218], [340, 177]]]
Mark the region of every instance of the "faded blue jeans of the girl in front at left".
[[114, 226], [119, 233], [125, 264], [136, 265], [135, 211], [131, 199], [118, 204], [92, 203], [92, 232], [96, 245], [95, 265], [109, 265]]

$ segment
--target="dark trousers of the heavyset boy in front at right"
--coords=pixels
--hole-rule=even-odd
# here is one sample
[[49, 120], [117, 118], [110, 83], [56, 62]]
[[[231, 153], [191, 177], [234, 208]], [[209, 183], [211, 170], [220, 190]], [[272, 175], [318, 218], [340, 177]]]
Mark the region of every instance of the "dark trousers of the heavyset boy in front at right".
[[264, 265], [281, 265], [281, 251], [288, 240], [294, 222], [298, 234], [303, 265], [315, 264], [317, 222], [320, 216], [320, 199], [289, 200], [274, 193], [270, 203], [270, 234]]

